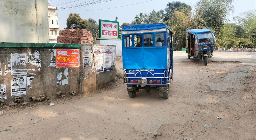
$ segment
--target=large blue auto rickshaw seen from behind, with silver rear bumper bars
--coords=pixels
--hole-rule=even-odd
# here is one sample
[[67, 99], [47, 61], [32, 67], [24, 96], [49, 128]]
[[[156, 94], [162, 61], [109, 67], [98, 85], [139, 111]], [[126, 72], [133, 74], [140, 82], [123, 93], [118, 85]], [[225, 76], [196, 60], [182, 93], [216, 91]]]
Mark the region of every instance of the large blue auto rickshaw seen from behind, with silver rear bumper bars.
[[134, 98], [139, 89], [157, 89], [169, 97], [173, 72], [172, 30], [164, 23], [122, 28], [124, 84]]

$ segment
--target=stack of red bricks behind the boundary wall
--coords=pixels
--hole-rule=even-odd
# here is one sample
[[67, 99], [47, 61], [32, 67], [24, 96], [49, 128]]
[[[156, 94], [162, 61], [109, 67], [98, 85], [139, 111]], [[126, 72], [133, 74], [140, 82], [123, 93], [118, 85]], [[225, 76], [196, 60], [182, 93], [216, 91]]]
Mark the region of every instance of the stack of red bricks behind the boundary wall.
[[85, 29], [65, 29], [60, 30], [60, 36], [58, 36], [57, 42], [67, 44], [93, 44], [93, 38], [92, 33]]

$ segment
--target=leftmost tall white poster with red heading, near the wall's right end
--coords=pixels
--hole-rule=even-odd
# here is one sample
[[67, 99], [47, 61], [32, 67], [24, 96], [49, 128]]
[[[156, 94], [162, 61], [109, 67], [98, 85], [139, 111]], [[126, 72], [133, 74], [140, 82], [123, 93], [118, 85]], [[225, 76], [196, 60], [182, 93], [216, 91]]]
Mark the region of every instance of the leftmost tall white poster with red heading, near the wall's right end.
[[93, 55], [96, 72], [103, 72], [104, 46], [93, 46]]

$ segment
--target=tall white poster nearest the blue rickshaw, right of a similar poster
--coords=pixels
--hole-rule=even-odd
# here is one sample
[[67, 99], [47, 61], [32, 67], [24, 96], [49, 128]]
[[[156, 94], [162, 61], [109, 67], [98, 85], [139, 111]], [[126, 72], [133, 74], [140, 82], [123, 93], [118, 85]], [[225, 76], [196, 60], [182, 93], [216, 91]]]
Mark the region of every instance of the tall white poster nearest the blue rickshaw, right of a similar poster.
[[112, 70], [113, 46], [104, 46], [104, 70]]

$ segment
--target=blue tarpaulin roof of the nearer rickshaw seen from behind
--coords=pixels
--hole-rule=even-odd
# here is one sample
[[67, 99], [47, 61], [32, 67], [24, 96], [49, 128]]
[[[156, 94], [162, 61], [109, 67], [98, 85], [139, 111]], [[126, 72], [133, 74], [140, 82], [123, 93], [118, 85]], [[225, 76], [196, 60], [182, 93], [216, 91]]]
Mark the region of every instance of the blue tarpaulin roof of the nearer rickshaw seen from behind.
[[[144, 31], [144, 30], [157, 30], [157, 29], [164, 29], [169, 28], [164, 23], [153, 23], [153, 24], [139, 24], [139, 25], [128, 25], [122, 28], [122, 31]], [[172, 31], [172, 30], [171, 30]]]

